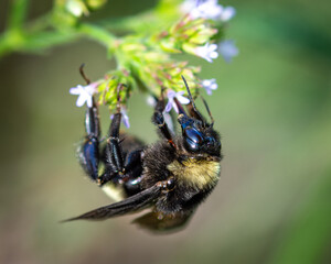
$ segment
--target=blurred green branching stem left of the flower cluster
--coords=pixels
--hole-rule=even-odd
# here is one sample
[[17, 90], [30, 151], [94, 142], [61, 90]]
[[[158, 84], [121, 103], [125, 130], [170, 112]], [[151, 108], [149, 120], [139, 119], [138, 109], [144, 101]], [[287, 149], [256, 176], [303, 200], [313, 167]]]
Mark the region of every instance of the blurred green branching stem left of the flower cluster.
[[[81, 23], [76, 26], [57, 28], [53, 21], [54, 12], [50, 12], [24, 26], [29, 0], [13, 0], [9, 28], [0, 35], [0, 57], [12, 52], [42, 52], [47, 47], [60, 45], [78, 36], [87, 36], [107, 47], [109, 55], [116, 53], [117, 37], [111, 31], [142, 32], [156, 23], [151, 11], [134, 18], [99, 22], [99, 25]], [[55, 24], [54, 24], [55, 23]], [[107, 30], [105, 29], [107, 28]], [[50, 29], [53, 29], [50, 31]], [[24, 31], [23, 31], [24, 30]]]

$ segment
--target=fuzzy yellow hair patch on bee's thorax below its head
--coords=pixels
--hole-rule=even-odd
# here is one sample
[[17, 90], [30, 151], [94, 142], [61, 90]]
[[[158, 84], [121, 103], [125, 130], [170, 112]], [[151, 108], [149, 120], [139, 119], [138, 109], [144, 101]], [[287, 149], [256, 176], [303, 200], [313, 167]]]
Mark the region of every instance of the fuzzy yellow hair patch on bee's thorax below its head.
[[220, 162], [196, 158], [188, 158], [181, 163], [174, 161], [167, 168], [179, 180], [179, 184], [199, 189], [215, 186], [221, 173]]

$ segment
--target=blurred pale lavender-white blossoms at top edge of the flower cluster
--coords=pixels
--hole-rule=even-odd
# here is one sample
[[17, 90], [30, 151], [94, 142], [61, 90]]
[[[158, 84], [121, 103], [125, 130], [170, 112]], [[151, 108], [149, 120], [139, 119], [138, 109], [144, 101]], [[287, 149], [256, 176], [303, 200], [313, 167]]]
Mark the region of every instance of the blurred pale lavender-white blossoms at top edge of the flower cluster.
[[211, 19], [226, 22], [235, 15], [233, 7], [218, 4], [217, 0], [185, 0], [181, 6], [184, 13], [189, 13], [192, 19]]

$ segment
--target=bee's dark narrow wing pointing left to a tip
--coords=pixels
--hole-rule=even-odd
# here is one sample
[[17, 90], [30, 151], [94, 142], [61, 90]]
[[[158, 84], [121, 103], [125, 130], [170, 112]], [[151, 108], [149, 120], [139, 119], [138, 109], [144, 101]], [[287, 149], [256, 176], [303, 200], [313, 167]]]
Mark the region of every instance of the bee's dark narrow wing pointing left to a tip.
[[128, 212], [135, 212], [147, 207], [161, 194], [160, 185], [154, 185], [137, 195], [130, 196], [127, 199], [111, 204], [109, 206], [100, 207], [82, 216], [74, 217], [63, 222], [74, 220], [105, 220], [107, 218], [118, 217]]

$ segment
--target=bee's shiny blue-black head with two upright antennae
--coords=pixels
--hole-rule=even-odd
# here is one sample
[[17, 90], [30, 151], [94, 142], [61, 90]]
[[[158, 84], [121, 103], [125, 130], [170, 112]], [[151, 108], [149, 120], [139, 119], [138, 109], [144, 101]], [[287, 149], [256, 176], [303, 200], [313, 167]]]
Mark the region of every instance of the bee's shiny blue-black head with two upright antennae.
[[212, 121], [209, 123], [196, 109], [188, 84], [184, 78], [183, 80], [190, 97], [188, 106], [190, 116], [186, 114], [180, 102], [177, 99], [174, 100], [179, 109], [178, 122], [182, 128], [183, 145], [188, 152], [220, 156], [221, 141], [218, 133], [213, 129], [214, 120], [211, 111], [203, 100]]

